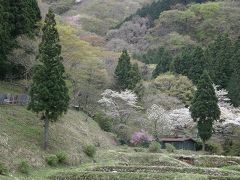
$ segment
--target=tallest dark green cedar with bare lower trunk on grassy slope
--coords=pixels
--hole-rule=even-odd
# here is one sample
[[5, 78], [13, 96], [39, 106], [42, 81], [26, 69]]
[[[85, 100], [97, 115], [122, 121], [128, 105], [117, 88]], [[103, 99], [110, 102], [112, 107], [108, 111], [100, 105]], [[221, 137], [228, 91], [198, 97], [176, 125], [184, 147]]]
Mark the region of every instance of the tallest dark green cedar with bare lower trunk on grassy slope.
[[42, 63], [35, 69], [30, 90], [29, 109], [42, 113], [44, 119], [44, 149], [48, 147], [49, 122], [56, 121], [67, 111], [69, 96], [64, 81], [61, 45], [56, 29], [55, 15], [50, 9], [43, 26], [38, 59]]

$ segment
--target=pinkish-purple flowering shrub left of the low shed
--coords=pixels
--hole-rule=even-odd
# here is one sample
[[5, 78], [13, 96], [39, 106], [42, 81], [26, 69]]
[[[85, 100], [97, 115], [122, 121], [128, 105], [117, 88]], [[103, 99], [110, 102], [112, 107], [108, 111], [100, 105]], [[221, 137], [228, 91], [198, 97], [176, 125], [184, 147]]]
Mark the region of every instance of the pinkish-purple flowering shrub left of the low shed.
[[130, 143], [134, 146], [148, 147], [151, 141], [153, 141], [153, 137], [141, 130], [132, 135]]

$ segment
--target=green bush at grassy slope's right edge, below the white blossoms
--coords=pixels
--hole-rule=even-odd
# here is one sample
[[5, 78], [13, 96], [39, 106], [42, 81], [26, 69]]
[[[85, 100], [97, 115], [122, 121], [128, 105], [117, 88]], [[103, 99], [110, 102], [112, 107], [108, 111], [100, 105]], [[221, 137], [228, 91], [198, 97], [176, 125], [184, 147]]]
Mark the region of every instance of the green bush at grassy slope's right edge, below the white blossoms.
[[97, 113], [94, 116], [94, 120], [98, 123], [99, 127], [106, 132], [112, 131], [112, 119], [106, 117], [102, 113]]

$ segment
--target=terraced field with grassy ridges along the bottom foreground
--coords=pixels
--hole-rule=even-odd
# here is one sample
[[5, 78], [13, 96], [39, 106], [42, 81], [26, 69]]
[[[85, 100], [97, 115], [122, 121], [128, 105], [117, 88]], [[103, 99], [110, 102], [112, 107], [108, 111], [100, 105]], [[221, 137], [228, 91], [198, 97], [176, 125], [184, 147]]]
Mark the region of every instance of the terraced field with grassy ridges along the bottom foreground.
[[[191, 159], [191, 161], [189, 161]], [[187, 161], [188, 160], [188, 161]], [[240, 179], [239, 157], [148, 152], [99, 152], [97, 163], [58, 172], [51, 179]], [[232, 164], [235, 165], [235, 168]]]

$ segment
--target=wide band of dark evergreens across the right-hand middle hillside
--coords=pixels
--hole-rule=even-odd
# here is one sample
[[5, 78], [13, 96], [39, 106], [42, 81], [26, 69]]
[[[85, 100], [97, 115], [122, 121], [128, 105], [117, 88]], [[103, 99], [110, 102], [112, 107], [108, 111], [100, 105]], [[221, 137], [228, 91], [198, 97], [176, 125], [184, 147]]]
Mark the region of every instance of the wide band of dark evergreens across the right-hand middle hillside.
[[151, 49], [135, 57], [146, 64], [157, 64], [152, 78], [172, 71], [187, 76], [197, 85], [203, 71], [207, 70], [214, 84], [229, 91], [233, 105], [240, 106], [239, 54], [240, 38], [232, 42], [227, 34], [223, 34], [204, 49], [187, 46], [175, 57], [163, 48]]

